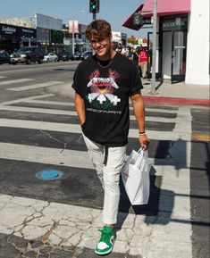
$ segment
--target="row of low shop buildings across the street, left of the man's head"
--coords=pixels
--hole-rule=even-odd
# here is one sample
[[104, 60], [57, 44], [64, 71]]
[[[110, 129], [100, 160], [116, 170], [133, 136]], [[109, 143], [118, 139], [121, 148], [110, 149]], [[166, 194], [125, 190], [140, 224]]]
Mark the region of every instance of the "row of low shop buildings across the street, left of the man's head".
[[0, 50], [13, 53], [21, 46], [40, 46], [44, 53], [72, 52], [72, 47], [75, 52], [82, 52], [90, 48], [85, 37], [86, 28], [78, 24], [78, 31], [72, 34], [63, 20], [40, 13], [33, 19], [0, 19]]

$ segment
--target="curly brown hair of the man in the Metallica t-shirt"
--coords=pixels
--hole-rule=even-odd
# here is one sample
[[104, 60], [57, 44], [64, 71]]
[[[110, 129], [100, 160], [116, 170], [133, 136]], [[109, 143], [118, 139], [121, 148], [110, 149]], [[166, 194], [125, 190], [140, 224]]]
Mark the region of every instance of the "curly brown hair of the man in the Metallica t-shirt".
[[105, 20], [96, 20], [89, 23], [85, 34], [90, 40], [95, 37], [97, 40], [103, 39], [105, 37], [110, 37], [112, 33], [111, 25]]

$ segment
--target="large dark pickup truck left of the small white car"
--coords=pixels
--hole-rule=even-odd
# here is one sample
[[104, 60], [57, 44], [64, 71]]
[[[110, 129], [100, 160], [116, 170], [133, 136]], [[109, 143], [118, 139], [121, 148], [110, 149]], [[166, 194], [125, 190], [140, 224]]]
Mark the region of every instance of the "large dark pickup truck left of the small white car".
[[10, 62], [30, 64], [30, 62], [42, 63], [44, 54], [38, 46], [23, 46], [16, 53], [10, 55]]

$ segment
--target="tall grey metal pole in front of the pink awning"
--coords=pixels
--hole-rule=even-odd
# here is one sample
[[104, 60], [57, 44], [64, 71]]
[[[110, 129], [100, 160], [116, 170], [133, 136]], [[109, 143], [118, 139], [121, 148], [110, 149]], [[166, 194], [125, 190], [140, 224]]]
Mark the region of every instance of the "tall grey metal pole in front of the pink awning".
[[153, 54], [151, 94], [155, 94], [155, 62], [156, 62], [156, 8], [157, 0], [153, 0]]

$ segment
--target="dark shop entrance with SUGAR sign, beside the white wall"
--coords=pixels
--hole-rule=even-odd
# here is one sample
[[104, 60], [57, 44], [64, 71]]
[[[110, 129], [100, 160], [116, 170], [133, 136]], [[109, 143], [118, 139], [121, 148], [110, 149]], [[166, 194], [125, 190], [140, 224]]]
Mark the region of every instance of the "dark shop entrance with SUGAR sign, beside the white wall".
[[[148, 42], [152, 42], [152, 32]], [[188, 36], [188, 15], [164, 16], [159, 19], [156, 46], [156, 77], [170, 79], [172, 83], [184, 81]], [[148, 47], [150, 57], [152, 46]], [[151, 60], [151, 59], [150, 59]], [[148, 77], [151, 77], [152, 63], [148, 63]]]

